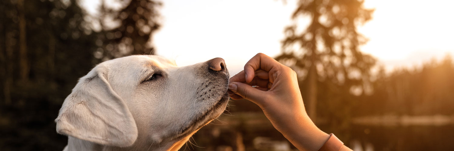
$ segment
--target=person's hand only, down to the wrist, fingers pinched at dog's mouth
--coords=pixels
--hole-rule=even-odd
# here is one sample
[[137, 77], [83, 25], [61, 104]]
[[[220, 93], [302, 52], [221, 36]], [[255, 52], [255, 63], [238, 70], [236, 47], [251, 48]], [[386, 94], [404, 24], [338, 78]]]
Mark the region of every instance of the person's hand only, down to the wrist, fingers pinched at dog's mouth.
[[295, 71], [265, 54], [252, 57], [230, 81], [230, 97], [256, 103], [276, 128], [307, 117]]

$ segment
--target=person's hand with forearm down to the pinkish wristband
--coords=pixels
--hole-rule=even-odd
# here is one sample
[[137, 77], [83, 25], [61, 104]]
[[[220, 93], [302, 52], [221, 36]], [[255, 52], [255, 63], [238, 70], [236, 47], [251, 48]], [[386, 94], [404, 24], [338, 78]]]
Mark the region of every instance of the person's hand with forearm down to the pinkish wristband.
[[299, 150], [316, 151], [328, 140], [329, 135], [307, 116], [291, 68], [259, 53], [230, 81], [230, 97], [245, 98], [261, 107], [271, 124]]

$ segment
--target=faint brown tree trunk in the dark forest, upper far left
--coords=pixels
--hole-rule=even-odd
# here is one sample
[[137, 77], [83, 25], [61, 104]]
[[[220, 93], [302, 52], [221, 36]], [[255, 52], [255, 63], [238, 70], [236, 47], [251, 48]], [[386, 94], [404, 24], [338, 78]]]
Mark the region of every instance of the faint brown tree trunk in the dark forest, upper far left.
[[30, 69], [27, 59], [27, 39], [26, 39], [26, 24], [25, 24], [25, 9], [24, 0], [17, 1], [19, 10], [19, 75], [23, 82], [28, 81]]

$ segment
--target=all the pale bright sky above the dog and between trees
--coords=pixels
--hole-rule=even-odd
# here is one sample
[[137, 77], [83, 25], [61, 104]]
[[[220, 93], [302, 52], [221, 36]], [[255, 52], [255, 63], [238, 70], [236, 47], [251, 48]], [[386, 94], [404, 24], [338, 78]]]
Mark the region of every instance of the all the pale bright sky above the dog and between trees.
[[[231, 75], [257, 53], [271, 57], [280, 53], [284, 28], [294, 23], [290, 16], [297, 4], [297, 0], [162, 2], [162, 27], [153, 35], [157, 54], [179, 66], [221, 57]], [[82, 5], [96, 14], [99, 0], [83, 0]], [[371, 21], [358, 27], [369, 38], [360, 48], [388, 71], [454, 55], [454, 1], [365, 0], [364, 5], [375, 12]]]

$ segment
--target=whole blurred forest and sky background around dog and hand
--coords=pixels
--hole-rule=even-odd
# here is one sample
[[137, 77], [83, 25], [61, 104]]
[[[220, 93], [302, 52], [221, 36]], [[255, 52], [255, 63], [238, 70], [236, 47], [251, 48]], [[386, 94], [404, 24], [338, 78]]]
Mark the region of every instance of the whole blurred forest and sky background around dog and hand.
[[[155, 54], [180, 66], [257, 53], [293, 68], [307, 112], [355, 151], [454, 150], [448, 0], [1, 0], [0, 148], [61, 151], [54, 119], [95, 64]], [[294, 151], [247, 100], [183, 150]]]

